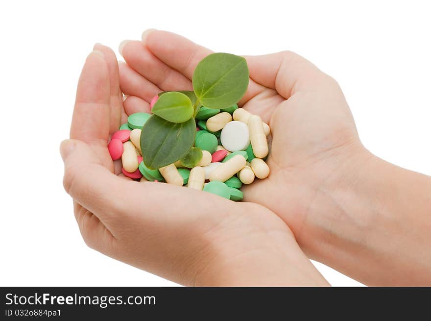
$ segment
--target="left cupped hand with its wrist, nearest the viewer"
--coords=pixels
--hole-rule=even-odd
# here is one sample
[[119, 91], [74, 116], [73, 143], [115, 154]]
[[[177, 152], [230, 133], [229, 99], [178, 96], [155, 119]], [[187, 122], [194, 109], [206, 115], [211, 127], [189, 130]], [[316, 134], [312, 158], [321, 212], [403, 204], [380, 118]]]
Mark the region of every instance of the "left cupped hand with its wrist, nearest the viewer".
[[64, 187], [86, 244], [187, 285], [327, 285], [285, 222], [267, 208], [118, 174], [109, 135], [126, 112], [147, 108], [148, 91], [157, 87], [140, 76], [134, 88], [144, 96], [123, 106], [115, 54], [95, 49], [79, 79], [71, 140], [60, 148]]

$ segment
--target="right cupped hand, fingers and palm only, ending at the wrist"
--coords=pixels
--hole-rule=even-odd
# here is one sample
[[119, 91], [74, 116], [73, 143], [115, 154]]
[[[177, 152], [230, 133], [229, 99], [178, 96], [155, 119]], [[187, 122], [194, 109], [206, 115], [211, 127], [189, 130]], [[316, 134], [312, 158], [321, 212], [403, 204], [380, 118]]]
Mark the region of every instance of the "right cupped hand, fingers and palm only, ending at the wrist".
[[[195, 66], [211, 52], [153, 29], [144, 32], [142, 42], [122, 42], [126, 110], [148, 110], [160, 91], [191, 90]], [[353, 219], [339, 208], [333, 191], [340, 180], [354, 176], [368, 154], [333, 78], [290, 51], [245, 58], [250, 81], [239, 106], [269, 123], [272, 146], [269, 177], [243, 186], [244, 200], [277, 213], [314, 258], [316, 243], [330, 237], [318, 235], [320, 225]]]

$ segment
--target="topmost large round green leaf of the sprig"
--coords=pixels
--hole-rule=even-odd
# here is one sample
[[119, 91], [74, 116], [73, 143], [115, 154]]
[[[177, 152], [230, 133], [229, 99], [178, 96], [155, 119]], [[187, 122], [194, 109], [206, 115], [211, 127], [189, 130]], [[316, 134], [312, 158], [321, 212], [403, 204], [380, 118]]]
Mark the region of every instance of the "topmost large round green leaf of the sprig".
[[202, 59], [193, 73], [193, 90], [209, 108], [227, 108], [237, 103], [248, 87], [248, 67], [243, 57], [212, 53]]

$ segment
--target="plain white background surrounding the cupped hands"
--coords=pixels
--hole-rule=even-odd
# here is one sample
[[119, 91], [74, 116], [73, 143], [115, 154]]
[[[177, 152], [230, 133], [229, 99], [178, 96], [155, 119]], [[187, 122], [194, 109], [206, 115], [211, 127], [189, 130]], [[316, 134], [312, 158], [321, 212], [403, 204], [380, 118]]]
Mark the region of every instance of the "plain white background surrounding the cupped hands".
[[[7, 4], [4, 4], [7, 3]], [[85, 246], [62, 187], [77, 79], [95, 42], [147, 28], [215, 51], [298, 52], [338, 80], [364, 145], [431, 174], [427, 1], [3, 1], [0, 285], [168, 286]], [[317, 264], [333, 285], [358, 282]]]

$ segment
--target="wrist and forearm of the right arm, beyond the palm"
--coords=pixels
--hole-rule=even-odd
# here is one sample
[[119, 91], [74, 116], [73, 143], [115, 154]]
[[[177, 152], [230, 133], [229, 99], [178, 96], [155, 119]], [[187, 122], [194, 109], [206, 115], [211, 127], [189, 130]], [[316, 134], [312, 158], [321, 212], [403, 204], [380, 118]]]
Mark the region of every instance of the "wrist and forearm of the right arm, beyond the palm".
[[429, 283], [428, 246], [421, 243], [431, 240], [418, 238], [429, 235], [429, 177], [364, 148], [338, 172], [323, 187], [333, 206], [320, 213], [310, 257], [368, 285]]

